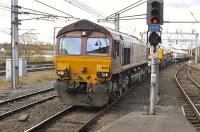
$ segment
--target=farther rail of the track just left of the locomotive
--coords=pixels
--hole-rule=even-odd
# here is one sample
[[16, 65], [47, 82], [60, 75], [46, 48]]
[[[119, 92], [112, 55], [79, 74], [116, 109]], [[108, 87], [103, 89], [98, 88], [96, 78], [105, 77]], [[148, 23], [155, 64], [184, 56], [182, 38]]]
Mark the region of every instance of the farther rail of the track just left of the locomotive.
[[32, 93], [29, 93], [29, 94], [21, 95], [21, 96], [15, 97], [15, 98], [7, 99], [7, 100], [4, 100], [4, 101], [1, 101], [0, 102], [0, 106], [5, 104], [5, 103], [8, 103], [8, 102], [12, 102], [12, 101], [16, 101], [16, 100], [19, 100], [19, 99], [23, 99], [23, 98], [26, 98], [26, 97], [29, 97], [29, 96], [32, 96], [32, 95], [36, 95], [36, 94], [39, 94], [39, 93], [51, 91], [53, 89], [54, 88], [48, 88], [48, 89], [32, 92]]

